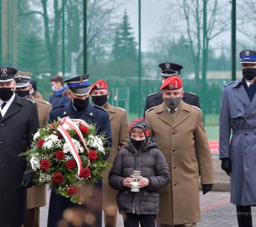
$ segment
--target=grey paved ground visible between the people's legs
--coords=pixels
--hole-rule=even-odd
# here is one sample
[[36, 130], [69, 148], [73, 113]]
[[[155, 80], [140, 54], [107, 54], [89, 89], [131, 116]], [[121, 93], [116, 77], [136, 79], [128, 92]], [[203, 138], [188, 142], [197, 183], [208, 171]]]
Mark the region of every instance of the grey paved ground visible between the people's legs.
[[[48, 192], [48, 198], [50, 193]], [[236, 220], [236, 207], [229, 203], [229, 192], [209, 192], [202, 195], [200, 192], [200, 206], [202, 221], [199, 227], [234, 227], [238, 226]], [[253, 207], [253, 222], [256, 224], [256, 208]], [[40, 226], [46, 227], [48, 207], [41, 209]], [[118, 215], [117, 227], [123, 226], [123, 219]]]

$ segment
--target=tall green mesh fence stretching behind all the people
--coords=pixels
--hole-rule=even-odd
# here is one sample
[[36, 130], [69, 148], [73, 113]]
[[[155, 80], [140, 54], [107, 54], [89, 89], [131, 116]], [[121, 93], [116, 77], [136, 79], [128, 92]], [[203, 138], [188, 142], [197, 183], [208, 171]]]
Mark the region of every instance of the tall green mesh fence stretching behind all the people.
[[32, 72], [46, 100], [54, 75], [88, 72], [91, 84], [102, 78], [110, 103], [127, 109], [129, 120], [142, 116], [148, 94], [159, 91], [159, 63], [178, 63], [185, 90], [199, 95], [209, 140], [218, 140], [221, 90], [232, 78], [232, 4], [241, 77], [239, 52], [255, 49], [255, 3], [1, 0], [0, 63]]

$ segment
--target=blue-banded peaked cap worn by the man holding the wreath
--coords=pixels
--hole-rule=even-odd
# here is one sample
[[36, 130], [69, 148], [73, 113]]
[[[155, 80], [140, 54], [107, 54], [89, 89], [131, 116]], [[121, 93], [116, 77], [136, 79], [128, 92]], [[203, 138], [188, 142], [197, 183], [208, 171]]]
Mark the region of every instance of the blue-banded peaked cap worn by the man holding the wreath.
[[76, 75], [70, 79], [64, 80], [67, 83], [67, 88], [77, 95], [85, 95], [90, 92], [89, 73]]

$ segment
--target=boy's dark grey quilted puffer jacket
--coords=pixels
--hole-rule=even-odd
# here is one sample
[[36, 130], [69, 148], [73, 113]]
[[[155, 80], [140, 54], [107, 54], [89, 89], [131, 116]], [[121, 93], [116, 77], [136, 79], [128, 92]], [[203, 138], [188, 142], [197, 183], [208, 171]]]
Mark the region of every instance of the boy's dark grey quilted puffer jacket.
[[[144, 149], [136, 151], [131, 143], [118, 152], [109, 174], [109, 184], [119, 190], [116, 201], [121, 213], [157, 215], [159, 207], [159, 190], [170, 183], [170, 173], [163, 154], [157, 149], [155, 139], [148, 139]], [[123, 186], [125, 177], [133, 170], [141, 171], [149, 179], [149, 186], [140, 188], [140, 192], [131, 192]]]

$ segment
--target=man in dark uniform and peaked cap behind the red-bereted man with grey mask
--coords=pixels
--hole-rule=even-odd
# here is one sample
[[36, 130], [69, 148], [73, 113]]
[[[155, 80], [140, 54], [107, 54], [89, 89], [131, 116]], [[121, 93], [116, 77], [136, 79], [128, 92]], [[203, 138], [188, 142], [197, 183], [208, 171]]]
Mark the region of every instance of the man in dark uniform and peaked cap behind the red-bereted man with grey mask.
[[[175, 63], [161, 63], [159, 64], [159, 67], [161, 68], [162, 82], [164, 82], [165, 79], [167, 79], [168, 77], [171, 77], [174, 75], [180, 76], [180, 70], [183, 69], [181, 65], [178, 65]], [[185, 92], [182, 98], [182, 101], [184, 101], [189, 105], [195, 105], [196, 107], [199, 107], [201, 109], [199, 104], [199, 98], [194, 93]], [[146, 106], [144, 109], [144, 116], [147, 109], [160, 105], [161, 103], [163, 103], [162, 92], [150, 94], [148, 97], [146, 97]]]

